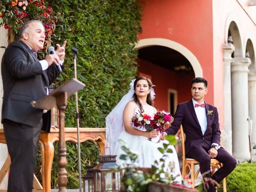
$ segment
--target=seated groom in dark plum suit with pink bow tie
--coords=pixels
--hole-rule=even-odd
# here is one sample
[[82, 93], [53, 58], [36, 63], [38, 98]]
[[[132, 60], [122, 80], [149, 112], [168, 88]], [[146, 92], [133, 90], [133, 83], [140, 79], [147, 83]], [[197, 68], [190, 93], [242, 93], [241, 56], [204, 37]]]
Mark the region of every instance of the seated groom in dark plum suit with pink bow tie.
[[[217, 108], [204, 102], [208, 92], [207, 81], [204, 78], [192, 80], [192, 99], [178, 104], [174, 122], [165, 134], [175, 135], [182, 124], [186, 134], [186, 157], [200, 162], [200, 172], [204, 177], [212, 178], [220, 183], [236, 167], [236, 160], [220, 146], [220, 124]], [[218, 171], [211, 176], [210, 161], [215, 158], [221, 163]], [[205, 174], [204, 174], [205, 173]], [[216, 188], [209, 184], [209, 192]]]

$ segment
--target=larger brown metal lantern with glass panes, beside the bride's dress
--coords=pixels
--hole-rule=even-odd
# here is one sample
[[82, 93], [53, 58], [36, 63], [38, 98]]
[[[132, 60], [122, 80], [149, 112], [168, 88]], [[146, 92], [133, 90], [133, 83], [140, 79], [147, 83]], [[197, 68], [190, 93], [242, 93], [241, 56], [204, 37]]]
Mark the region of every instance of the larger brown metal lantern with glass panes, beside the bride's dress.
[[100, 163], [93, 170], [94, 192], [118, 192], [122, 170], [116, 164], [116, 155], [100, 155]]

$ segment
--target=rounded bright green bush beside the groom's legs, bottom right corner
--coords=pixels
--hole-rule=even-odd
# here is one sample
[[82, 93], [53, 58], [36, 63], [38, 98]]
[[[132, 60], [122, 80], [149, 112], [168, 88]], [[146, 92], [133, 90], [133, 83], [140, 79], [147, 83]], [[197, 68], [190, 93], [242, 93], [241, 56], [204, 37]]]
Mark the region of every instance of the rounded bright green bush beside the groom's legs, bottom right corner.
[[[239, 164], [226, 178], [227, 191], [256, 192], [255, 178], [256, 163]], [[223, 191], [222, 184], [218, 191]]]

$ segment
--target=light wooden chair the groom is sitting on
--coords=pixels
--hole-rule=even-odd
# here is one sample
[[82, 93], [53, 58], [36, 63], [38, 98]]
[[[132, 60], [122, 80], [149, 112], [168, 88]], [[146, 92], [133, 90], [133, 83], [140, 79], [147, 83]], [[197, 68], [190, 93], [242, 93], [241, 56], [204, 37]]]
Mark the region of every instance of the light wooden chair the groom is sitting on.
[[[191, 187], [194, 188], [195, 179], [198, 177], [198, 174], [200, 172], [200, 168], [195, 173], [195, 165], [199, 165], [199, 162], [191, 159], [186, 158], [186, 152], [185, 152], [185, 136], [182, 125], [180, 126], [180, 134], [181, 134], [181, 141], [182, 141], [182, 178], [184, 179], [185, 176], [188, 174], [188, 171], [190, 171], [190, 177], [191, 177]], [[221, 168], [223, 165], [216, 159], [211, 159], [211, 167], [212, 167], [212, 175], [215, 173], [215, 169]], [[226, 178], [222, 180], [223, 185], [223, 192], [226, 192]]]

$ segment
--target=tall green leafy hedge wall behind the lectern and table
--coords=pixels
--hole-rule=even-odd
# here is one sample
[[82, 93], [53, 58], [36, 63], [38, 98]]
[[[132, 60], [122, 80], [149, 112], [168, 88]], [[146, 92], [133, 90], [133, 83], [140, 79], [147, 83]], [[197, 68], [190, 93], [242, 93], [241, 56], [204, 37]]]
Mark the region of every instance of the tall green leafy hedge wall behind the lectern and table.
[[[141, 30], [141, 7], [136, 0], [49, 0], [49, 5], [59, 13], [52, 44], [67, 40], [66, 68], [56, 86], [74, 76], [71, 52], [74, 46], [79, 52], [78, 80], [86, 84], [78, 92], [80, 127], [105, 127], [106, 115], [128, 91], [137, 73], [134, 44]], [[65, 112], [66, 127], [76, 127], [75, 112], [72, 96]], [[81, 144], [82, 174], [85, 174], [85, 165], [95, 163], [98, 152], [98, 146], [92, 142]], [[76, 144], [67, 143], [67, 153], [67, 188], [78, 188]], [[39, 178], [40, 156], [38, 153], [36, 174]], [[55, 151], [52, 188], [58, 187], [57, 160]]]

